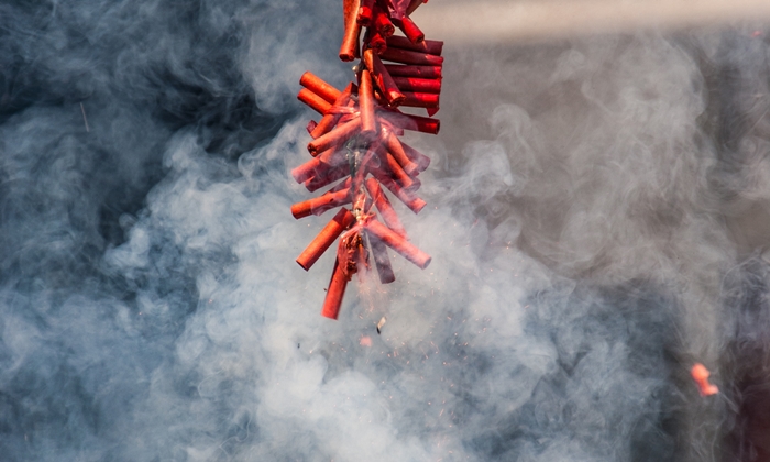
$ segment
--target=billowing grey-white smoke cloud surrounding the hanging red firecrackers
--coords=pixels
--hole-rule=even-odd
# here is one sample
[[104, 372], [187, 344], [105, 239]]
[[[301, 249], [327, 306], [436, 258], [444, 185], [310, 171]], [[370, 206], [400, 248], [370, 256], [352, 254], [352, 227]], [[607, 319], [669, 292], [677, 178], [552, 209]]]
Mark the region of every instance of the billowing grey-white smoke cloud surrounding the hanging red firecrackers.
[[0, 6], [2, 460], [762, 454], [761, 31], [448, 41], [399, 209], [433, 261], [334, 322], [288, 172], [301, 73], [352, 77], [338, 10]]

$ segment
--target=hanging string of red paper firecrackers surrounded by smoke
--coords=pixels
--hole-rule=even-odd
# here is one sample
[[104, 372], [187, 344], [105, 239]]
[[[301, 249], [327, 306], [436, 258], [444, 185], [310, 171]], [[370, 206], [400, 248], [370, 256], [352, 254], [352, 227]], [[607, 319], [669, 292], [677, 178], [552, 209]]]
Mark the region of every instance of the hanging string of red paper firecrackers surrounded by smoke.
[[[360, 59], [358, 84], [340, 90], [307, 72], [297, 98], [322, 117], [310, 121], [312, 158], [292, 170], [309, 191], [326, 193], [292, 206], [300, 219], [341, 207], [297, 258], [310, 270], [339, 239], [321, 315], [337, 319], [348, 282], [372, 262], [380, 282], [396, 279], [387, 249], [425, 268], [430, 256], [409, 242], [384, 189], [418, 213], [418, 175], [430, 160], [403, 143], [405, 130], [437, 134], [443, 42], [426, 40], [409, 15], [428, 0], [343, 0], [340, 59]], [[404, 35], [396, 35], [399, 30]], [[363, 37], [362, 37], [363, 35]], [[425, 108], [428, 117], [399, 107]], [[375, 211], [376, 209], [376, 211]]]

